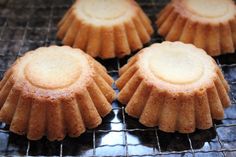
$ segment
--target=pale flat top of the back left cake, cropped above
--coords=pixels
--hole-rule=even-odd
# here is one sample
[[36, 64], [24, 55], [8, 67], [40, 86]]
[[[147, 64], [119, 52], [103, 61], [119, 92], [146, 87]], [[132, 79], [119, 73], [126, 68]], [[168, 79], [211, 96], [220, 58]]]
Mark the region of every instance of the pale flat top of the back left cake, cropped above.
[[130, 0], [79, 0], [74, 4], [78, 18], [95, 25], [119, 23], [135, 15]]

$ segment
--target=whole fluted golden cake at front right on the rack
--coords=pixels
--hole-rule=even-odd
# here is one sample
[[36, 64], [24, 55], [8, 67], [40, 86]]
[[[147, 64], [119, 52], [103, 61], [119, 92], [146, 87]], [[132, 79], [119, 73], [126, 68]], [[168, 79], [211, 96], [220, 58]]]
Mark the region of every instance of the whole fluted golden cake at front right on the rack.
[[191, 133], [212, 127], [230, 106], [229, 86], [215, 61], [192, 44], [144, 48], [120, 71], [118, 100], [148, 127]]

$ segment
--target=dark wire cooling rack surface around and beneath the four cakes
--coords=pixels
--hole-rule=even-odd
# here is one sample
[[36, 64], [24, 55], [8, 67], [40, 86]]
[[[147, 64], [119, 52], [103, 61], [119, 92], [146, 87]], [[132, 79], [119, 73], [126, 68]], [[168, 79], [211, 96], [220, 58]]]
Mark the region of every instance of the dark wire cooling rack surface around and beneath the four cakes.
[[[138, 0], [154, 24], [155, 14], [169, 0]], [[61, 45], [56, 39], [56, 24], [73, 1], [68, 0], [0, 0], [0, 77], [26, 51], [40, 46]], [[153, 35], [149, 46], [163, 38]], [[118, 70], [128, 58], [99, 60], [109, 74], [118, 78]], [[113, 102], [112, 112], [96, 129], [79, 138], [66, 137], [61, 142], [49, 142], [45, 137], [29, 141], [25, 136], [10, 133], [9, 126], [0, 123], [0, 155], [45, 156], [236, 156], [236, 55], [215, 58], [231, 86], [232, 106], [225, 118], [215, 121], [208, 130], [192, 134], [165, 133], [158, 128], [146, 128], [129, 117], [119, 102]], [[118, 89], [113, 86], [118, 93]]]

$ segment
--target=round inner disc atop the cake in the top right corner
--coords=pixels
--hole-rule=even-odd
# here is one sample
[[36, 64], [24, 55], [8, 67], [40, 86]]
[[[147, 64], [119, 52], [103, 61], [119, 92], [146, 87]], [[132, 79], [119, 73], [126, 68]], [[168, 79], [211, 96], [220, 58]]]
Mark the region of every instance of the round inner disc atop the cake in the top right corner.
[[222, 0], [187, 0], [187, 6], [194, 13], [208, 18], [224, 16], [228, 12], [228, 3]]

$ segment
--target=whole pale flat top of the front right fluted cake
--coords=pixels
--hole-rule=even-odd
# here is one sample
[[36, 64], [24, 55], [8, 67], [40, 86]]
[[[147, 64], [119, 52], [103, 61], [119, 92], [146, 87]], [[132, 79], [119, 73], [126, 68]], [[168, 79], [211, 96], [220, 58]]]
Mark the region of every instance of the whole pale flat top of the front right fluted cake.
[[214, 60], [191, 44], [165, 41], [143, 49], [138, 56], [142, 75], [158, 88], [192, 91], [217, 76]]

